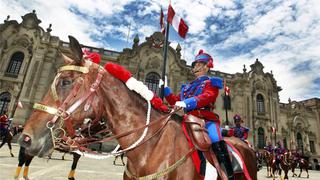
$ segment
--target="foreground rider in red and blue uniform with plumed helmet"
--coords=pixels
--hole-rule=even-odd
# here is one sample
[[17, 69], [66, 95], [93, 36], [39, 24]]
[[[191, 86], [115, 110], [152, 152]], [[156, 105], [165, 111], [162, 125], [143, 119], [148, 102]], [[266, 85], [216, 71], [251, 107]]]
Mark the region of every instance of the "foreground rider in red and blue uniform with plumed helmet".
[[[207, 73], [213, 68], [212, 57], [202, 50], [192, 62], [192, 73], [196, 79], [191, 83], [182, 85], [179, 95], [174, 95], [169, 87], [165, 87], [164, 96], [170, 105], [184, 108], [187, 115], [193, 115], [205, 120], [205, 128], [208, 131], [219, 164], [223, 164], [228, 178], [233, 179], [233, 169], [228, 154], [227, 146], [222, 140], [220, 132], [220, 120], [212, 111], [222, 88], [222, 80], [217, 77], [209, 77]], [[202, 153], [199, 153], [203, 157]], [[205, 163], [204, 158], [202, 163]]]

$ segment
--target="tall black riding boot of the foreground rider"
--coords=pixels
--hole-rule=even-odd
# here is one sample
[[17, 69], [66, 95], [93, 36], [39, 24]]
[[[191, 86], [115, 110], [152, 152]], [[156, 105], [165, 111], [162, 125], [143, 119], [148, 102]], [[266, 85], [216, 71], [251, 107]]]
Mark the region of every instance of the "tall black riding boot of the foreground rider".
[[234, 180], [233, 167], [227, 150], [226, 142], [221, 140], [219, 142], [212, 143], [212, 150], [217, 156], [219, 164], [224, 165], [228, 175], [228, 180]]

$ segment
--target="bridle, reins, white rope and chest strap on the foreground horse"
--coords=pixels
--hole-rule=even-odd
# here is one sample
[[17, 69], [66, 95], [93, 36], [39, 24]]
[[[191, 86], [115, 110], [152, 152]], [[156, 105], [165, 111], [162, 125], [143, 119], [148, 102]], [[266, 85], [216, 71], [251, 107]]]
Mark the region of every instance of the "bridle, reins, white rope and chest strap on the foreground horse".
[[[50, 133], [51, 133], [51, 137], [52, 137], [52, 143], [54, 148], [56, 147], [56, 144], [58, 143], [60, 145], [60, 148], [62, 147], [69, 147], [69, 151], [71, 149], [74, 149], [73, 152], [76, 152], [80, 155], [85, 155], [85, 152], [90, 152], [90, 153], [94, 153], [93, 151], [91, 151], [90, 149], [81, 146], [79, 141], [74, 140], [73, 137], [75, 136], [75, 130], [72, 126], [72, 119], [70, 117], [70, 115], [80, 106], [82, 105], [84, 102], [86, 102], [85, 106], [84, 106], [84, 111], [88, 111], [88, 109], [90, 108], [90, 105], [92, 103], [93, 100], [93, 94], [97, 91], [97, 89], [99, 88], [99, 85], [101, 83], [102, 77], [105, 74], [105, 69], [102, 68], [101, 66], [99, 66], [98, 69], [98, 74], [96, 77], [96, 80], [93, 84], [91, 84], [90, 86], [90, 91], [86, 92], [85, 95], [83, 95], [80, 99], [78, 99], [75, 103], [73, 103], [71, 106], [69, 106], [69, 108], [67, 108], [68, 103], [74, 98], [76, 97], [78, 90], [80, 89], [83, 81], [76, 81], [77, 84], [74, 85], [73, 89], [71, 90], [70, 94], [67, 96], [67, 98], [64, 100], [64, 102], [61, 104], [59, 101], [59, 97], [58, 97], [58, 93], [56, 90], [56, 83], [57, 83], [57, 79], [60, 77], [61, 72], [62, 71], [77, 71], [77, 72], [81, 72], [81, 73], [88, 73], [89, 72], [89, 67], [83, 67], [83, 66], [75, 66], [75, 65], [66, 65], [63, 66], [59, 69], [59, 73], [56, 75], [56, 77], [54, 78], [54, 81], [51, 85], [51, 92], [52, 92], [52, 96], [53, 99], [57, 102], [58, 105], [60, 105], [58, 108], [55, 107], [50, 107], [44, 104], [39, 104], [39, 103], [35, 103], [33, 108], [37, 109], [37, 110], [41, 110], [44, 112], [47, 112], [48, 114], [54, 115], [53, 118], [47, 122], [46, 127], [48, 129], [50, 129]], [[151, 139], [152, 137], [154, 137], [155, 135], [157, 135], [158, 133], [160, 133], [162, 131], [162, 129], [165, 127], [165, 125], [167, 124], [167, 122], [169, 121], [171, 115], [173, 113], [175, 113], [178, 110], [173, 110], [171, 111], [167, 116], [163, 117], [163, 118], [159, 118], [153, 122], [150, 123], [150, 109], [151, 109], [151, 105], [150, 105], [150, 101], [148, 102], [148, 112], [147, 112], [147, 123], [146, 125], [139, 127], [137, 129], [133, 129], [131, 131], [128, 132], [124, 132], [118, 135], [114, 135], [112, 137], [109, 138], [105, 138], [103, 140], [100, 141], [95, 141], [95, 142], [107, 142], [110, 141], [112, 139], [115, 138], [121, 138], [124, 136], [127, 136], [129, 134], [132, 134], [138, 130], [144, 129], [143, 134], [141, 135], [141, 137], [135, 142], [133, 143], [131, 146], [129, 146], [128, 148], [124, 149], [124, 150], [120, 150], [118, 152], [116, 152], [119, 148], [119, 145], [116, 147], [116, 149], [111, 152], [111, 153], [106, 153], [105, 155], [107, 157], [111, 156], [111, 155], [120, 155], [126, 151], [132, 150], [134, 148], [136, 148], [137, 146], [140, 146], [141, 144], [147, 142], [149, 139]], [[58, 122], [58, 119], [62, 119]], [[147, 130], [148, 127], [154, 124], [157, 124], [159, 122], [163, 122], [163, 119], [166, 119], [165, 122], [162, 124], [162, 126], [160, 126], [160, 128], [158, 128], [155, 133], [144, 139], [146, 134], [147, 134]], [[63, 129], [63, 126], [65, 125], [66, 127], [66, 131]], [[56, 129], [54, 129], [54, 127], [56, 127]], [[60, 131], [60, 133], [59, 133]], [[101, 131], [104, 132], [104, 131]], [[98, 132], [100, 133], [100, 132]], [[56, 134], [60, 134], [56, 135]], [[86, 145], [88, 145], [89, 143], [87, 143]], [[154, 178], [159, 178], [162, 176], [165, 176], [166, 174], [172, 172], [174, 169], [176, 169], [177, 167], [179, 167], [181, 164], [183, 164], [186, 159], [191, 156], [191, 154], [195, 151], [195, 148], [192, 148], [189, 150], [189, 152], [184, 155], [181, 159], [179, 159], [176, 163], [174, 163], [173, 165], [167, 167], [166, 169], [157, 172], [157, 173], [153, 173], [150, 175], [146, 175], [143, 177], [138, 177], [133, 175], [132, 173], [130, 173], [130, 171], [126, 168], [125, 169], [125, 173], [127, 174], [128, 177], [134, 178], [134, 179], [139, 179], [139, 180], [147, 180], [147, 179], [154, 179]]]

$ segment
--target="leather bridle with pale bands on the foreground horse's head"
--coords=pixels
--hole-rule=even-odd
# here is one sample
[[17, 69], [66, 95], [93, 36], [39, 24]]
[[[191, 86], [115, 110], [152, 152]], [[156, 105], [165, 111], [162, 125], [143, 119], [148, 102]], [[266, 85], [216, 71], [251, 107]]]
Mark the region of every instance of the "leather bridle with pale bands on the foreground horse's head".
[[[88, 62], [88, 61], [87, 61]], [[91, 66], [91, 62], [89, 63], [89, 67]], [[94, 94], [99, 88], [102, 77], [105, 74], [105, 69], [99, 66], [97, 77], [94, 83], [91, 84], [90, 90], [87, 91], [80, 99], [76, 100], [72, 105], [69, 105], [77, 95], [80, 87], [83, 85], [83, 79], [77, 80], [74, 83], [74, 86], [67, 96], [67, 98], [61, 103], [58, 97], [58, 93], [56, 90], [57, 80], [61, 76], [63, 71], [76, 71], [83, 74], [87, 74], [89, 72], [88, 66], [76, 66], [76, 65], [66, 65], [59, 69], [58, 74], [55, 76], [54, 81], [51, 85], [51, 93], [52, 97], [55, 100], [58, 108], [50, 107], [44, 104], [35, 103], [33, 108], [36, 110], [44, 111], [48, 114], [53, 115], [53, 118], [47, 122], [46, 127], [50, 130], [52, 143], [54, 148], [57, 144], [62, 145], [65, 144], [69, 146], [69, 148], [79, 147], [79, 143], [77, 143], [73, 138], [75, 137], [76, 131], [72, 125], [71, 114], [80, 107], [83, 103], [84, 111], [88, 111], [91, 103], [94, 99]], [[100, 117], [99, 117], [100, 118]], [[61, 119], [60, 121], [58, 121]], [[65, 126], [66, 130], [63, 128]], [[60, 134], [60, 135], [56, 135]], [[65, 146], [63, 146], [65, 147]]]

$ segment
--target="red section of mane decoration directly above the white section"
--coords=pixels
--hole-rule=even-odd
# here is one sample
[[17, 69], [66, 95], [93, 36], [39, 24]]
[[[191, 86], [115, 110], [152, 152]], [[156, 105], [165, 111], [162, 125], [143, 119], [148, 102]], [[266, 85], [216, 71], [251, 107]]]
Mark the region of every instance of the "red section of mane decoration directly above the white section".
[[122, 82], [127, 82], [131, 77], [131, 73], [118, 64], [106, 63], [104, 65], [104, 68], [114, 77], [120, 79]]

